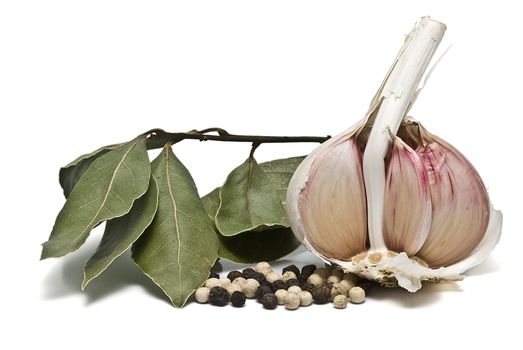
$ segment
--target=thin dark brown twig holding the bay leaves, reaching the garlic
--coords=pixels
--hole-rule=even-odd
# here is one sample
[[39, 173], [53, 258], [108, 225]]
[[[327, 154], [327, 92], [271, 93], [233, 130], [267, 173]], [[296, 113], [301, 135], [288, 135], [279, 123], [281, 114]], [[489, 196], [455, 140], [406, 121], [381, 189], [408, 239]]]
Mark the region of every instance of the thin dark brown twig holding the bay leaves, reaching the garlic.
[[[208, 135], [216, 132], [218, 135]], [[162, 129], [152, 129], [144, 133], [147, 137], [147, 149], [162, 148], [166, 143], [177, 143], [182, 140], [224, 141], [224, 142], [250, 142], [262, 143], [292, 143], [316, 142], [323, 143], [330, 136], [262, 136], [262, 135], [237, 135], [230, 134], [221, 128], [208, 128], [204, 130], [191, 130], [189, 132], [166, 132]]]

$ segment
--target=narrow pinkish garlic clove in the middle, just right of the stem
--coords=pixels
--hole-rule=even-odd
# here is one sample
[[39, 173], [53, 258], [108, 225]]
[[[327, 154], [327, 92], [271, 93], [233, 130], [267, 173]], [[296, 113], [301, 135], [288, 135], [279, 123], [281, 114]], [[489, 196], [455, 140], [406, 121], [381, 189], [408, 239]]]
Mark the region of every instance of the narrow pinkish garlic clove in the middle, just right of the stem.
[[429, 233], [432, 206], [427, 170], [416, 152], [393, 137], [387, 164], [383, 238], [387, 248], [416, 254]]

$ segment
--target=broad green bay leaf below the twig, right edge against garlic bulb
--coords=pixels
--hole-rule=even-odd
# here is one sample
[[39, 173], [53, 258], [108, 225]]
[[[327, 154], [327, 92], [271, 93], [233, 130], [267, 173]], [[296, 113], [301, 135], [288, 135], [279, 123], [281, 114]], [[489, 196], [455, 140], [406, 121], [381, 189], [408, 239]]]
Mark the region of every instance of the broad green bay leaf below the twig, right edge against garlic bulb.
[[293, 158], [287, 166], [284, 164], [281, 160], [261, 166], [251, 156], [227, 176], [220, 188], [215, 217], [222, 235], [289, 226], [284, 209], [285, 183], [299, 163]]

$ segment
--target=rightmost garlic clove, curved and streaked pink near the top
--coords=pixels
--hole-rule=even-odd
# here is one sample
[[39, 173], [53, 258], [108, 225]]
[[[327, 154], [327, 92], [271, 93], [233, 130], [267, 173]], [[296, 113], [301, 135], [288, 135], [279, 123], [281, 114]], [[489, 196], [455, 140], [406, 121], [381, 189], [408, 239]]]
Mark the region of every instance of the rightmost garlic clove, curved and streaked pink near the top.
[[418, 252], [430, 267], [466, 258], [481, 242], [490, 217], [487, 189], [456, 148], [419, 125], [420, 155], [430, 181], [432, 224]]

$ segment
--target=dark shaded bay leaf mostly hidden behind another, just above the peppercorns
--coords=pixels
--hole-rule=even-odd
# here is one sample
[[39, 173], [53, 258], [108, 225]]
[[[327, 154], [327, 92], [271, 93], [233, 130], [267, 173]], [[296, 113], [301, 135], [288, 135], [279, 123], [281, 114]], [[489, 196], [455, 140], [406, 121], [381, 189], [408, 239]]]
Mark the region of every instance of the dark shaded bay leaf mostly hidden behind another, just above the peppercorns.
[[[216, 188], [203, 196], [202, 202], [209, 218], [214, 220], [220, 206], [220, 189]], [[225, 237], [218, 231], [216, 234], [220, 243], [219, 257], [242, 264], [278, 260], [301, 244], [290, 228], [248, 231], [231, 237]]]

